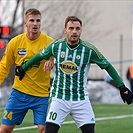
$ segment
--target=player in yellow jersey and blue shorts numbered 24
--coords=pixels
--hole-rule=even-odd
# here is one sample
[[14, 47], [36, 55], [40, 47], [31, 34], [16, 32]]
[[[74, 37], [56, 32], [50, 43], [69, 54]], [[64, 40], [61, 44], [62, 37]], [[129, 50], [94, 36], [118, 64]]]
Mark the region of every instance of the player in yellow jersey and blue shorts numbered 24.
[[[11, 39], [0, 62], [0, 84], [13, 63], [18, 68], [53, 41], [53, 38], [40, 31], [39, 10], [28, 9], [24, 23], [26, 32]], [[10, 98], [3, 112], [0, 133], [11, 133], [15, 125], [22, 123], [29, 109], [33, 111], [38, 132], [45, 133], [50, 87], [50, 71], [43, 71], [45, 62], [43, 60], [34, 64], [22, 80], [15, 76]], [[51, 67], [54, 65], [52, 59], [47, 63]]]

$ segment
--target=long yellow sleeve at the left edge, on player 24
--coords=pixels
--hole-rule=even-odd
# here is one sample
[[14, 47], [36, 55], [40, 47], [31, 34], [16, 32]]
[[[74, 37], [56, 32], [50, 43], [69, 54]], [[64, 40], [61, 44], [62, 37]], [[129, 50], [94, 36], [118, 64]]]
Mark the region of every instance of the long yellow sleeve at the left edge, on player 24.
[[0, 85], [9, 74], [10, 67], [15, 62], [13, 43], [12, 40], [8, 43], [5, 53], [0, 61]]

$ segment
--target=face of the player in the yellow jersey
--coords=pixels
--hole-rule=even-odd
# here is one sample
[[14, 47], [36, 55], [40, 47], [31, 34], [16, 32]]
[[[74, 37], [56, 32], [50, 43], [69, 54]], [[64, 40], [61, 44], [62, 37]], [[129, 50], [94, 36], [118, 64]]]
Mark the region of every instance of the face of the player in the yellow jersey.
[[40, 31], [41, 27], [41, 16], [40, 15], [28, 15], [25, 18], [25, 27], [27, 28], [27, 32], [36, 34]]

